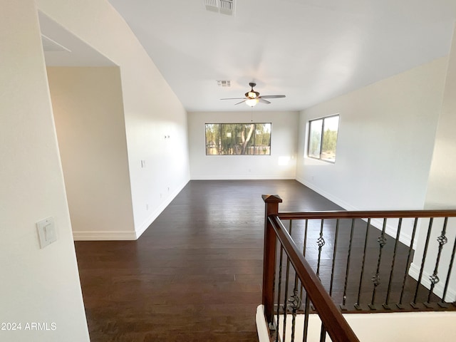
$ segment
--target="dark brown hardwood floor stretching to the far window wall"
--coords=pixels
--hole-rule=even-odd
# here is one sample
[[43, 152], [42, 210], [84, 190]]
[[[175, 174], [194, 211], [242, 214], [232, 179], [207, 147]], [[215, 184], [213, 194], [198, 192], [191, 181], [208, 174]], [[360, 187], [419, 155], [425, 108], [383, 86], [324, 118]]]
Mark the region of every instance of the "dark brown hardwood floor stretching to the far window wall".
[[191, 181], [138, 241], [75, 242], [91, 341], [258, 341], [263, 194], [341, 209], [295, 180]]

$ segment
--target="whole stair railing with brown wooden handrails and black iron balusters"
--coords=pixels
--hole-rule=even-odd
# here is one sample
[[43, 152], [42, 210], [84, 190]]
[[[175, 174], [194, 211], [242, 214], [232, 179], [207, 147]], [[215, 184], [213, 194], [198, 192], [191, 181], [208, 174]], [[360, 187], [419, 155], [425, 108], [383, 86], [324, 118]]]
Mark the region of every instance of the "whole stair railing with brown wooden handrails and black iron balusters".
[[[454, 294], [448, 294], [456, 252], [456, 227], [450, 227], [455, 222], [449, 222], [456, 210], [279, 212], [279, 196], [263, 195], [263, 199], [262, 303], [275, 341], [286, 338], [287, 315], [291, 341], [297, 314], [305, 316], [306, 341], [311, 311], [322, 322], [320, 341], [325, 341], [326, 333], [332, 341], [358, 341], [341, 312], [456, 309]], [[403, 229], [408, 245], [400, 242]], [[308, 241], [311, 235], [316, 244]], [[447, 244], [449, 237], [452, 244]], [[437, 246], [432, 246], [433, 239]], [[309, 249], [313, 254], [307, 252], [306, 258]], [[443, 257], [442, 252], [446, 252]]]

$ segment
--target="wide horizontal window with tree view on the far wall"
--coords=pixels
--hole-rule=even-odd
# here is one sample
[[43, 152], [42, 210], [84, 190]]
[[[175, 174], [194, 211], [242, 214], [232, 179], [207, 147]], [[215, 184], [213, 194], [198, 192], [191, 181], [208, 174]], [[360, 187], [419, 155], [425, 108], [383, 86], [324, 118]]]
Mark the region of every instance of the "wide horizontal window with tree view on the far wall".
[[206, 155], [271, 155], [271, 123], [207, 123]]

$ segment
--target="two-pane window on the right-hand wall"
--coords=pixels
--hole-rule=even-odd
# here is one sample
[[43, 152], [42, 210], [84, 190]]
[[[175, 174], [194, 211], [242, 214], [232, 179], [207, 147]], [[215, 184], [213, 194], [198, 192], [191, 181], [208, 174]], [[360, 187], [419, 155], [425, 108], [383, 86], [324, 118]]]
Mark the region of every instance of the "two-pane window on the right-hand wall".
[[336, 162], [339, 115], [309, 121], [309, 145], [307, 156]]

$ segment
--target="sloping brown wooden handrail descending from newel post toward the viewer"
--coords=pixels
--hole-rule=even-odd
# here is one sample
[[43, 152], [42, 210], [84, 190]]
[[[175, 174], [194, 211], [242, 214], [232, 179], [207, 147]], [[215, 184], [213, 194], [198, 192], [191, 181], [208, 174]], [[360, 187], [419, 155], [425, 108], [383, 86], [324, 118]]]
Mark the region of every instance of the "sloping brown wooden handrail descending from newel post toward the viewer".
[[343, 318], [331, 296], [326, 292], [320, 279], [316, 276], [309, 263], [296, 247], [283, 224], [277, 218], [278, 215], [271, 214], [268, 217], [274, 232], [284, 247], [284, 251], [289, 257], [291, 264], [296, 270], [306, 293], [309, 295], [318, 316], [320, 316], [323, 325], [333, 342], [355, 342], [359, 341], [355, 333]]

